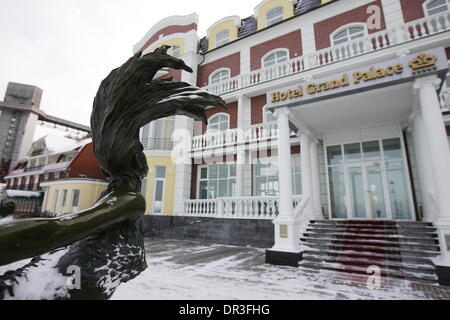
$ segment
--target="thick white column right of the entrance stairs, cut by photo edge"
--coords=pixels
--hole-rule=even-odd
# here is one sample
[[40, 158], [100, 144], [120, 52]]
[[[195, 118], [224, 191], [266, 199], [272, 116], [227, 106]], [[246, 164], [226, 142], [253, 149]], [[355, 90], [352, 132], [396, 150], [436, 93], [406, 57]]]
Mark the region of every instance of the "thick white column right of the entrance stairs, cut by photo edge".
[[442, 252], [439, 264], [450, 266], [450, 148], [436, 92], [440, 83], [437, 76], [423, 77], [414, 82], [414, 89], [419, 94], [439, 204], [435, 223]]

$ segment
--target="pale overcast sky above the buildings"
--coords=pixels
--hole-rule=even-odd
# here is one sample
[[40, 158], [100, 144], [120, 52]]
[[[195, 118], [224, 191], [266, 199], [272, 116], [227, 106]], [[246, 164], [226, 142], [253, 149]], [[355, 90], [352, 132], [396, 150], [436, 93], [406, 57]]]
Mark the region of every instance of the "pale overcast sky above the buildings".
[[108, 73], [161, 19], [197, 12], [199, 36], [229, 15], [253, 14], [259, 0], [0, 0], [0, 101], [9, 81], [44, 90], [46, 113], [89, 125]]

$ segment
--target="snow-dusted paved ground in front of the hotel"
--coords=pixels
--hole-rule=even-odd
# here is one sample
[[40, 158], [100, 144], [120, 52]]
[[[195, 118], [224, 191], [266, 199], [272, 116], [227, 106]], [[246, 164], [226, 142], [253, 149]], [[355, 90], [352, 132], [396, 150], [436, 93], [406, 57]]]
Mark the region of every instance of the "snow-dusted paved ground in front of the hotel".
[[264, 263], [264, 250], [147, 240], [149, 268], [113, 299], [152, 300], [450, 300], [450, 287]]

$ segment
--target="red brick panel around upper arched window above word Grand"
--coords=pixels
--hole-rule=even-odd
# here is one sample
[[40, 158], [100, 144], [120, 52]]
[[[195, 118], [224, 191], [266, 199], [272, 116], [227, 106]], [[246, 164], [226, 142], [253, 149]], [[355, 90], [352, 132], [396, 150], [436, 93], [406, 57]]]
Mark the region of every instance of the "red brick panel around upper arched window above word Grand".
[[[409, 0], [408, 0], [409, 1]], [[331, 46], [330, 36], [333, 32], [350, 23], [367, 23], [371, 13], [367, 13], [367, 8], [371, 5], [377, 5], [383, 10], [381, 0], [368, 3], [362, 7], [338, 14], [332, 18], [323, 20], [314, 25], [316, 38], [316, 49], [321, 50]], [[384, 13], [381, 15], [381, 30], [386, 29]], [[380, 30], [369, 30], [369, 34], [379, 32]]]

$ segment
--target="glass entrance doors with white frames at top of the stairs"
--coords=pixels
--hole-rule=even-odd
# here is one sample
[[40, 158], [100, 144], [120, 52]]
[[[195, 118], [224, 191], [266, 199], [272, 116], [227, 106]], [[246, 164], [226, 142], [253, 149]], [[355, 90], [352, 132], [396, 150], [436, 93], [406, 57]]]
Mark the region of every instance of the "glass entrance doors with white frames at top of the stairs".
[[412, 220], [401, 138], [326, 147], [331, 219]]

